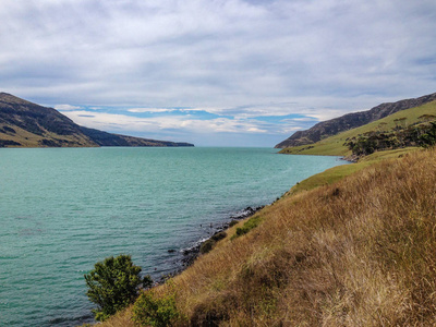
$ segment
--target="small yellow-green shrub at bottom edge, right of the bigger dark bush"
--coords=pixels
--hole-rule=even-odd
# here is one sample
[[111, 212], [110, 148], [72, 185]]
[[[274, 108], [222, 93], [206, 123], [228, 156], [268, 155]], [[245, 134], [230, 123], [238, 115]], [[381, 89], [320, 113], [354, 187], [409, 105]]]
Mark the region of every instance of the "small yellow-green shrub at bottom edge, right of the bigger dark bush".
[[174, 292], [158, 298], [153, 290], [149, 290], [141, 294], [133, 306], [133, 320], [140, 326], [170, 326], [179, 317]]

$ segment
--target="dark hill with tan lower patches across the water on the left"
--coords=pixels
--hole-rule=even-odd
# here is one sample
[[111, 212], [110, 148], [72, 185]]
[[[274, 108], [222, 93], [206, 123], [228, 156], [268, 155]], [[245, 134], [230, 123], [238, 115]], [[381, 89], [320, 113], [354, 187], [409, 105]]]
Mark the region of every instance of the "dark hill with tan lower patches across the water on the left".
[[59, 111], [0, 93], [0, 147], [193, 146], [111, 134], [74, 123]]

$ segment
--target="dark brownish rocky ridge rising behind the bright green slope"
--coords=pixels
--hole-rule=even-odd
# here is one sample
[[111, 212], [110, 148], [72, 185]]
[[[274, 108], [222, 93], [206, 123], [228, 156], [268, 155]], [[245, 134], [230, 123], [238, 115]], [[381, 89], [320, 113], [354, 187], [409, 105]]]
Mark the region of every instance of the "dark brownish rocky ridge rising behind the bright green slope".
[[277, 144], [275, 147], [286, 148], [291, 146], [313, 144], [325, 137], [362, 126], [395, 112], [415, 108], [433, 100], [436, 100], [436, 93], [422, 96], [420, 98], [382, 104], [367, 111], [348, 113], [339, 118], [319, 122], [306, 131], [295, 132], [292, 136]]

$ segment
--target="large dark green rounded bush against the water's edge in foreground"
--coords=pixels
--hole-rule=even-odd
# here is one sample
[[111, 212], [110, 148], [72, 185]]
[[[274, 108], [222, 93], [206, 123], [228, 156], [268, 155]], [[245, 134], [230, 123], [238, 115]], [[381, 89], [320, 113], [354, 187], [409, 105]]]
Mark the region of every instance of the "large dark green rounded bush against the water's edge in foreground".
[[133, 303], [141, 283], [150, 287], [150, 277], [142, 279], [141, 270], [133, 265], [130, 255], [122, 254], [95, 264], [94, 269], [85, 275], [86, 295], [97, 304], [97, 308], [93, 310], [96, 320], [102, 322]]

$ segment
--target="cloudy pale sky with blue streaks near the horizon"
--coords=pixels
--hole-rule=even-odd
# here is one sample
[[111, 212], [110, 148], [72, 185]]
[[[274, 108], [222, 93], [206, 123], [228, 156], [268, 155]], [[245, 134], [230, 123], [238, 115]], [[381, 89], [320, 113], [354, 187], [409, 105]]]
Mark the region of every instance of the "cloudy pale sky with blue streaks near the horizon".
[[267, 146], [436, 92], [434, 0], [1, 0], [0, 92], [81, 125]]

